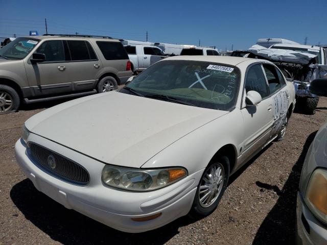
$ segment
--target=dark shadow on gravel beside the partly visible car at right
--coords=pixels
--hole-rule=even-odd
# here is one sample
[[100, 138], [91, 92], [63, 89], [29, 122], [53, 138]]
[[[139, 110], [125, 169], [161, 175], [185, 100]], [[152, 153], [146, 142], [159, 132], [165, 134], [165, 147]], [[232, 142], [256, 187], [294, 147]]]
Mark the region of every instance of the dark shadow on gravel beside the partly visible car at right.
[[263, 189], [274, 190], [279, 195], [274, 207], [267, 214], [252, 244], [294, 244], [296, 235], [296, 197], [302, 170], [303, 161], [307, 155], [309, 146], [313, 141], [316, 132], [307, 138], [303, 145], [302, 152], [292, 167], [282, 190], [275, 185], [256, 182], [256, 185]]

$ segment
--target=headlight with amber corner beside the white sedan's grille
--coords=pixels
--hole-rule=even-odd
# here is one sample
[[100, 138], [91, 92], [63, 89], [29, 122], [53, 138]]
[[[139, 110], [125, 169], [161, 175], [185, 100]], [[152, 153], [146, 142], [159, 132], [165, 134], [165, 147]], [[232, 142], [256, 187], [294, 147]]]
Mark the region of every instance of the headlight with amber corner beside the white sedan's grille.
[[106, 165], [102, 170], [102, 181], [106, 185], [135, 191], [158, 189], [186, 176], [188, 171], [182, 167], [137, 169]]

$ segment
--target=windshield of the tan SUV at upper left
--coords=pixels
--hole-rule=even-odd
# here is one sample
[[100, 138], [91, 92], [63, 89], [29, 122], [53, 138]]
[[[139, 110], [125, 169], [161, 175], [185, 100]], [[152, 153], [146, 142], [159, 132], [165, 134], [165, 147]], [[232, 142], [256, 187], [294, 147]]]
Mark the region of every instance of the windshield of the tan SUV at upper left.
[[38, 42], [38, 39], [18, 37], [0, 49], [0, 58], [24, 59]]

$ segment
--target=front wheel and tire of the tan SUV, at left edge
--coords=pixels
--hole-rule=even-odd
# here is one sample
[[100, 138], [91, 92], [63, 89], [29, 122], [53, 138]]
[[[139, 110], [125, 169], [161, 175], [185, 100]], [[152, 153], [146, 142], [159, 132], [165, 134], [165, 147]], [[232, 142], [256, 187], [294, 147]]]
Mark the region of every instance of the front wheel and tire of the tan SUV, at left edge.
[[0, 84], [0, 115], [17, 111], [19, 105], [20, 98], [16, 90]]

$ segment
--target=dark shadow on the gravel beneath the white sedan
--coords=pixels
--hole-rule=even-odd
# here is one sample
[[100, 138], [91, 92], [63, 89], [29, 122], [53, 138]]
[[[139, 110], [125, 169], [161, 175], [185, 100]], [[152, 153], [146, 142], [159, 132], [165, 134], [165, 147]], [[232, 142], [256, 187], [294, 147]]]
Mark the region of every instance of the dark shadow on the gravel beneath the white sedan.
[[[228, 181], [230, 185], [269, 146], [242, 166]], [[125, 233], [114, 230], [61, 204], [38, 191], [29, 179], [15, 184], [10, 197], [17, 208], [36, 227], [53, 240], [63, 244], [164, 244], [179, 233], [178, 229], [197, 220], [184, 216], [172, 223], [145, 233]]]

